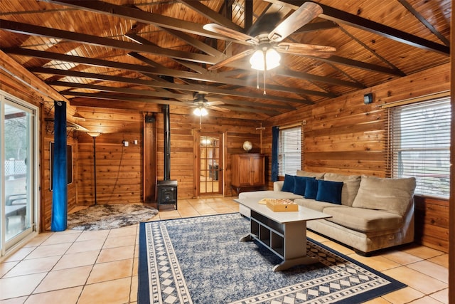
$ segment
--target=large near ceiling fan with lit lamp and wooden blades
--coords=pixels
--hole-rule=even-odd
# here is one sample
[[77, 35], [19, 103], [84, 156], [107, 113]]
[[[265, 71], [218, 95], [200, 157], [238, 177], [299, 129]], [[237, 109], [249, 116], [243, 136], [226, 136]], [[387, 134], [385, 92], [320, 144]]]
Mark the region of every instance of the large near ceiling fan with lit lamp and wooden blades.
[[[233, 38], [237, 41], [243, 41], [254, 46], [246, 51], [238, 53], [237, 55], [226, 58], [215, 65], [211, 65], [208, 70], [216, 70], [225, 65], [245, 58], [253, 54], [250, 58], [251, 67], [255, 70], [270, 70], [279, 65], [279, 53], [290, 53], [295, 55], [318, 56], [321, 58], [328, 58], [336, 48], [332, 46], [318, 46], [314, 44], [304, 43], [291, 43], [282, 42], [287, 36], [294, 33], [306, 23], [315, 19], [323, 12], [321, 6], [312, 2], [302, 4], [299, 9], [289, 15], [279, 23], [272, 31], [259, 31], [256, 36], [250, 36], [239, 31], [232, 30], [225, 26], [220, 26], [217, 23], [208, 23], [203, 26], [207, 31], [219, 33], [223, 36]], [[264, 23], [267, 26], [267, 23]]]

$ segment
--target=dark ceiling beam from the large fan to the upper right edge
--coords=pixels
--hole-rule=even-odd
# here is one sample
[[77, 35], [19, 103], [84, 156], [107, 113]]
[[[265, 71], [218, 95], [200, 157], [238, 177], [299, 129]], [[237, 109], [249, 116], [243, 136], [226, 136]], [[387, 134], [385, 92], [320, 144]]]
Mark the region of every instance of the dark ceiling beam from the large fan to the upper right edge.
[[[284, 2], [293, 6], [301, 6], [306, 1], [305, 0], [280, 0], [279, 2]], [[392, 28], [390, 26], [385, 26], [384, 24], [371, 21], [360, 16], [350, 14], [346, 11], [341, 11], [335, 9], [331, 6], [326, 6], [324, 4], [319, 4], [322, 7], [323, 13], [319, 15], [320, 18], [330, 20], [336, 23], [345, 24], [348, 26], [353, 26], [355, 28], [360, 28], [363, 31], [368, 31], [370, 33], [376, 33], [380, 36], [390, 38], [401, 43], [406, 43], [410, 46], [415, 46], [417, 48], [422, 48], [427, 51], [432, 51], [440, 53], [445, 56], [450, 56], [450, 48], [433, 41], [429, 41], [419, 36], [400, 31], [397, 28]]]

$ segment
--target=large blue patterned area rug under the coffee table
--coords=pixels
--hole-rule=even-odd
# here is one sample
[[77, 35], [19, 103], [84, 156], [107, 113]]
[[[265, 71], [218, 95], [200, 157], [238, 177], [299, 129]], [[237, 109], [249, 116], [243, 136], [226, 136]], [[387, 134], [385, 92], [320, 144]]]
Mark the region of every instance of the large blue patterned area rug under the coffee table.
[[311, 239], [319, 263], [273, 272], [249, 231], [240, 214], [141, 223], [138, 303], [353, 304], [406, 286]]

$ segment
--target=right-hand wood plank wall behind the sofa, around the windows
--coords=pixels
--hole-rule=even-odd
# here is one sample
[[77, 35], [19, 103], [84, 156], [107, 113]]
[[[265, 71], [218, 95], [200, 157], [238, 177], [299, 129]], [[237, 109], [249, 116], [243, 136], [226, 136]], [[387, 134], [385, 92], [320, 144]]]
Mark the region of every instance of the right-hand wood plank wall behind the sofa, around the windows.
[[[303, 168], [312, 172], [387, 175], [386, 110], [378, 105], [449, 90], [449, 65], [378, 85], [368, 90], [306, 106], [264, 122], [265, 150], [271, 151], [272, 126], [305, 121]], [[374, 102], [363, 103], [363, 94], [373, 93]], [[270, 157], [269, 157], [270, 159]], [[270, 176], [270, 171], [268, 171]], [[272, 182], [269, 182], [272, 189]], [[441, 199], [417, 200], [417, 241], [448, 251], [449, 202]]]

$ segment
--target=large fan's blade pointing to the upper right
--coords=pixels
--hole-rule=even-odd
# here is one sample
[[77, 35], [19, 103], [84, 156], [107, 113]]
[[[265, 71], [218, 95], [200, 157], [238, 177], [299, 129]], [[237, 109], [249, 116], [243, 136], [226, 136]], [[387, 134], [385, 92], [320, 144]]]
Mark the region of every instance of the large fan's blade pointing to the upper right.
[[315, 19], [321, 13], [322, 8], [318, 4], [313, 2], [302, 4], [299, 9], [294, 11], [291, 16], [284, 19], [282, 23], [279, 23], [278, 26], [269, 33], [269, 40], [274, 42], [284, 40], [284, 38]]

